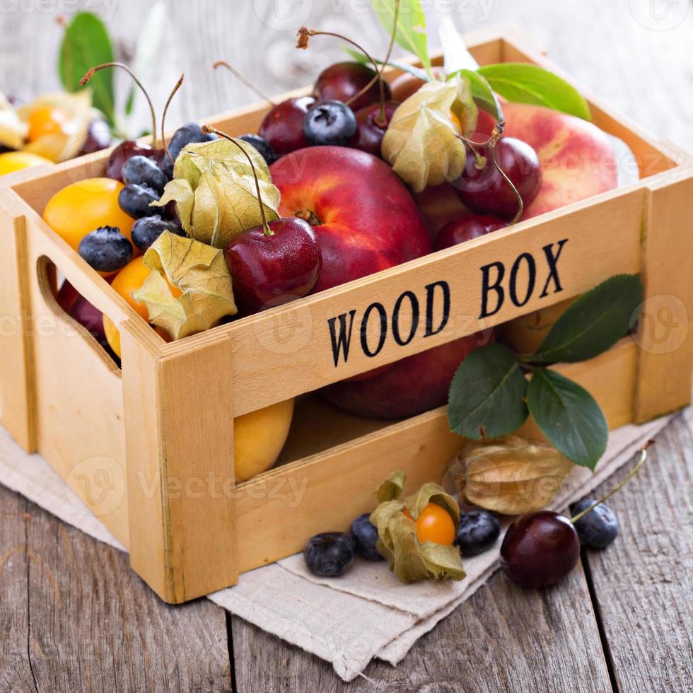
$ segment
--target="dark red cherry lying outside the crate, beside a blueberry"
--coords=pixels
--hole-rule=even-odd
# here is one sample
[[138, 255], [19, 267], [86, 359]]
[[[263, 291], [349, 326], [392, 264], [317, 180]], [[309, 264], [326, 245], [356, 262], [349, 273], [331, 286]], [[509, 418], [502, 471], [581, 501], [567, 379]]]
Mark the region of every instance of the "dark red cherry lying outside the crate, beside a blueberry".
[[571, 521], [550, 511], [520, 516], [501, 544], [501, 566], [520, 587], [562, 580], [578, 563], [580, 539]]

